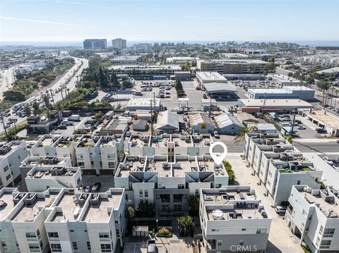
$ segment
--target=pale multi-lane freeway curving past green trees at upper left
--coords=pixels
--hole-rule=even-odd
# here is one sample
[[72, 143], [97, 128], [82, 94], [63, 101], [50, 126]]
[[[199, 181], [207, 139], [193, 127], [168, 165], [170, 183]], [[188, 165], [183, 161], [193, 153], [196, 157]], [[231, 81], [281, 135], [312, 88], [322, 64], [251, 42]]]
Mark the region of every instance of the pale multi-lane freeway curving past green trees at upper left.
[[[36, 100], [40, 101], [42, 94], [44, 94], [44, 92], [46, 92], [46, 90], [49, 90], [49, 91], [53, 90], [54, 91], [54, 96], [53, 96], [54, 102], [60, 101], [62, 99], [61, 93], [56, 92], [56, 90], [58, 90], [61, 87], [61, 85], [64, 85], [65, 83], [67, 83], [67, 87], [69, 88], [70, 92], [72, 90], [74, 90], [76, 88], [76, 82], [78, 81], [78, 78], [81, 75], [83, 69], [88, 68], [88, 60], [85, 59], [85, 58], [76, 58], [76, 57], [73, 57], [73, 58], [76, 61], [76, 64], [72, 68], [67, 70], [66, 73], [61, 76], [61, 78], [58, 78], [51, 85], [49, 85], [49, 87], [47, 87], [44, 90], [41, 90], [40, 92], [35, 94], [35, 96], [31, 97], [30, 99], [26, 100], [25, 102], [36, 101]], [[83, 64], [81, 65], [81, 63], [83, 63]], [[79, 66], [81, 66], [81, 67], [79, 68]], [[69, 80], [69, 82], [67, 82], [67, 80]], [[25, 103], [25, 102], [23, 102], [23, 103]], [[11, 108], [11, 111], [12, 111], [12, 109], [13, 108]], [[27, 117], [20, 118], [16, 115], [12, 114], [12, 116], [4, 118], [5, 124], [9, 121], [9, 118], [17, 118], [18, 121], [16, 122], [16, 125], [23, 123], [27, 119]], [[8, 130], [10, 130], [10, 129], [11, 128], [8, 128]], [[2, 123], [0, 123], [0, 134], [2, 134], [2, 133], [4, 133], [4, 125], [2, 125]]]

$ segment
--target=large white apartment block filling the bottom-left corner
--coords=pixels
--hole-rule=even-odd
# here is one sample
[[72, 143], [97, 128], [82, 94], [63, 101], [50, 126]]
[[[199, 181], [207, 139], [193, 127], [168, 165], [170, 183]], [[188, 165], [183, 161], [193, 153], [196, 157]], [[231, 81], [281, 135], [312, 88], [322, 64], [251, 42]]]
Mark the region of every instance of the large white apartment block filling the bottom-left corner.
[[0, 190], [1, 252], [114, 252], [125, 230], [124, 189]]

